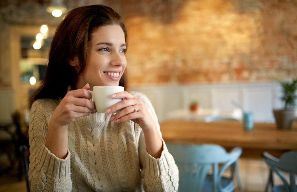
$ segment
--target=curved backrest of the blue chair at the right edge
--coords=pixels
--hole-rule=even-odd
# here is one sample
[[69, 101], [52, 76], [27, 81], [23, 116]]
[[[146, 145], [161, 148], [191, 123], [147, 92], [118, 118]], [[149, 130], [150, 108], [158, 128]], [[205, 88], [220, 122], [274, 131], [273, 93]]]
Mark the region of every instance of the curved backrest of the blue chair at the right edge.
[[[268, 164], [268, 166], [278, 174], [278, 176], [284, 183], [284, 186], [287, 191], [297, 191], [295, 181], [295, 173], [297, 172], [297, 151], [285, 152], [281, 155], [279, 159], [275, 158], [267, 152], [264, 152], [263, 159]], [[290, 173], [290, 184], [285, 178], [284, 174], [282, 174], [280, 169], [288, 171]]]

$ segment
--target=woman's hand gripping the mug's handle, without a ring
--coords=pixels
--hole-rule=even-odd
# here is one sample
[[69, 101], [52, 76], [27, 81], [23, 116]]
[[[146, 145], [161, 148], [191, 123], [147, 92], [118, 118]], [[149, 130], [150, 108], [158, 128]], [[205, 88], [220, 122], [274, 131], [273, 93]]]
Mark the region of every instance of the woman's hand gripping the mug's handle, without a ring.
[[90, 101], [91, 94], [87, 91], [90, 85], [82, 89], [67, 92], [60, 104], [56, 107], [50, 123], [55, 127], [68, 127], [78, 117], [89, 116], [95, 110], [95, 104]]

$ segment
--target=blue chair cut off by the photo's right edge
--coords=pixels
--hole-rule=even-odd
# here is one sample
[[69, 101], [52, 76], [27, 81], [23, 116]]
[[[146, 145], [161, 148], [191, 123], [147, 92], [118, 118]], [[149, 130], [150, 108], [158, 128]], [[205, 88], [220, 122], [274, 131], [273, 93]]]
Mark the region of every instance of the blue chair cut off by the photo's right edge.
[[[263, 159], [270, 167], [268, 183], [265, 189], [266, 192], [268, 192], [269, 186], [271, 186], [272, 191], [297, 192], [297, 186], [295, 183], [297, 172], [297, 151], [285, 152], [279, 159], [270, 155], [268, 152], [264, 152]], [[288, 171], [290, 173], [290, 184], [281, 170]], [[274, 186], [272, 177], [273, 171], [281, 178], [284, 185]]]

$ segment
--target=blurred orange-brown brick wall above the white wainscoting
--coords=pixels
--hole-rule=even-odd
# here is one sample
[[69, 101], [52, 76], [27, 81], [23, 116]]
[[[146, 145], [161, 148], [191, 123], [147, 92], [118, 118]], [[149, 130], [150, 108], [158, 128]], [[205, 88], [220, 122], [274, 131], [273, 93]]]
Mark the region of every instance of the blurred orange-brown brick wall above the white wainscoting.
[[297, 1], [105, 1], [129, 30], [130, 85], [297, 77]]

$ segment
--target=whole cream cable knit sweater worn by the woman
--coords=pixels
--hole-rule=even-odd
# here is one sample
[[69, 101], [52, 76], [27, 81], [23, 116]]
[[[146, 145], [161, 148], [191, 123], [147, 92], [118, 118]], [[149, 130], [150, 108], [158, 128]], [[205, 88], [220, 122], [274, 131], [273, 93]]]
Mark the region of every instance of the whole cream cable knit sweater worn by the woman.
[[[149, 99], [131, 93], [143, 100], [159, 130]], [[96, 112], [69, 124], [68, 155], [57, 158], [44, 144], [58, 104], [57, 100], [40, 99], [31, 108], [31, 191], [177, 191], [178, 169], [165, 142], [161, 157], [152, 157], [139, 125], [111, 122], [112, 114]]]

